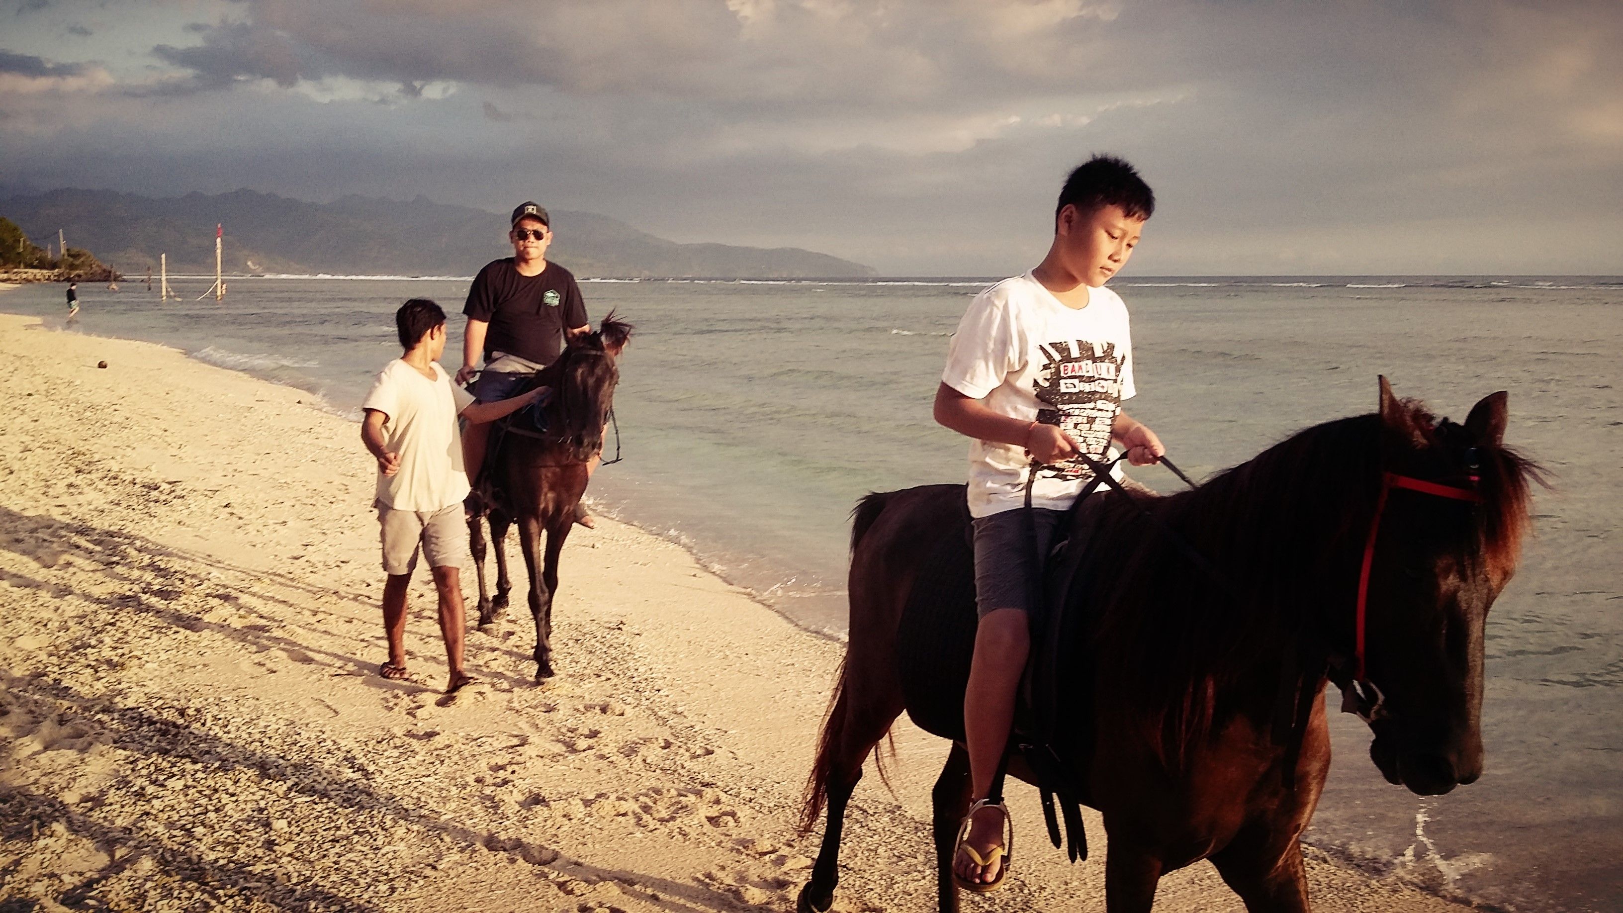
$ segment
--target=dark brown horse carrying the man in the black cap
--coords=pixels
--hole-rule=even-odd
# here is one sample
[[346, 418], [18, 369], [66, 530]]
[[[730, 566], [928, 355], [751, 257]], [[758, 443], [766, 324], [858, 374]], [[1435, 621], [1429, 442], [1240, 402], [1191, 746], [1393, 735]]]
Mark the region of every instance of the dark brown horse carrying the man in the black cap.
[[[479, 575], [479, 624], [495, 621], [506, 608], [513, 582], [508, 578], [503, 541], [518, 521], [519, 547], [529, 570], [529, 614], [536, 619], [536, 681], [552, 671], [552, 598], [558, 591], [558, 554], [575, 526], [575, 505], [586, 492], [589, 463], [602, 452], [604, 426], [613, 408], [620, 380], [615, 357], [631, 338], [633, 327], [604, 318], [596, 333], [570, 340], [545, 369], [536, 372], [537, 387], [550, 387], [542, 406], [545, 431], [526, 422], [529, 409], [500, 419], [490, 431], [484, 484], [469, 497], [469, 547]], [[492, 495], [490, 492], [497, 492]], [[485, 588], [485, 531], [497, 552], [497, 595]], [[540, 534], [547, 533], [545, 552]]]

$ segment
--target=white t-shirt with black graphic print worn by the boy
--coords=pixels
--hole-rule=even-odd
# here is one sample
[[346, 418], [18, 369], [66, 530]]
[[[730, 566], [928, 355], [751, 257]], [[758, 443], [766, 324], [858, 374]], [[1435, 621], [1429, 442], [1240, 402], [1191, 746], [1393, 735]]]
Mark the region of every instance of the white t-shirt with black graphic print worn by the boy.
[[[1113, 291], [1091, 288], [1086, 307], [1066, 307], [1031, 273], [1003, 279], [975, 296], [958, 323], [941, 382], [998, 414], [1057, 424], [1089, 458], [1113, 460], [1110, 431], [1134, 395], [1126, 305]], [[972, 442], [971, 517], [1022, 507], [1029, 465], [1021, 447]], [[1045, 466], [1031, 504], [1065, 510], [1091, 479], [1074, 460]]]

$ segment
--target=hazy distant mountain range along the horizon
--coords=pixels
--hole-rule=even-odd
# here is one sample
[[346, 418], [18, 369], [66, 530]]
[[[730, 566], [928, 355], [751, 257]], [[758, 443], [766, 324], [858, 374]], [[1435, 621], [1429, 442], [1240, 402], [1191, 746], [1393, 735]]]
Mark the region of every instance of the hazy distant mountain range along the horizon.
[[[344, 197], [331, 203], [234, 190], [136, 197], [112, 190], [50, 190], [0, 200], [0, 216], [34, 240], [96, 253], [125, 275], [214, 271], [214, 224], [224, 224], [227, 273], [471, 276], [511, 255], [506, 216], [448, 206]], [[592, 213], [552, 210], [558, 240], [549, 252], [578, 276], [836, 278], [873, 276], [862, 263], [797, 247], [677, 244]]]

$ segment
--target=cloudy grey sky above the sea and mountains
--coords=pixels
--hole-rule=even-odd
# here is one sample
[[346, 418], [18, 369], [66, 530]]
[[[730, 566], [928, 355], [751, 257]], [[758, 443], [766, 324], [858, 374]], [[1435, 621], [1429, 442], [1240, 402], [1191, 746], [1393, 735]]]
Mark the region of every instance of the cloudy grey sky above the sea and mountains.
[[1110, 151], [1160, 201], [1138, 275], [1615, 275], [1620, 47], [1618, 0], [0, 0], [0, 187], [1001, 275]]

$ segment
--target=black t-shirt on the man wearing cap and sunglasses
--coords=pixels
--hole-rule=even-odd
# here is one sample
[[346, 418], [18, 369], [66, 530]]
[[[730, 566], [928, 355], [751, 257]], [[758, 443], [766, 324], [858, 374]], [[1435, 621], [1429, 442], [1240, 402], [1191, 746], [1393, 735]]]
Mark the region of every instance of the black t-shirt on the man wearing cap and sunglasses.
[[492, 260], [474, 276], [463, 314], [490, 323], [485, 361], [506, 353], [552, 364], [563, 351], [563, 331], [586, 327], [586, 302], [575, 273], [547, 263], [539, 276], [521, 276], [513, 258]]

